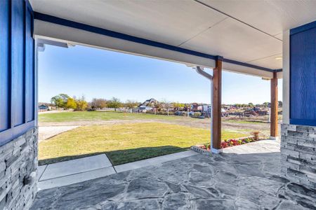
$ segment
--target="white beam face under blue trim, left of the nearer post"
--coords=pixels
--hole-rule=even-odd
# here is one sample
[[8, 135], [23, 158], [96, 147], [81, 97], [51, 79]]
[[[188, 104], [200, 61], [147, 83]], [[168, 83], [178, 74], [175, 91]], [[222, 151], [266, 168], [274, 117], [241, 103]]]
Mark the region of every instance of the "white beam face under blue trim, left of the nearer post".
[[[201, 65], [209, 68], [213, 68], [215, 66], [215, 61], [213, 59], [187, 55], [173, 50], [155, 48], [150, 45], [125, 41], [123, 39], [112, 38], [110, 36], [103, 36], [101, 34], [74, 29], [72, 27], [65, 27], [41, 20], [34, 20], [34, 34], [36, 34], [35, 38], [55, 42], [57, 41], [60, 43], [70, 43], [71, 45], [79, 44], [95, 48], [114, 50], [117, 52], [127, 52], [132, 55], [159, 58], [187, 65]], [[263, 71], [263, 73], [269, 72]], [[261, 71], [258, 71], [256, 75], [261, 76]]]

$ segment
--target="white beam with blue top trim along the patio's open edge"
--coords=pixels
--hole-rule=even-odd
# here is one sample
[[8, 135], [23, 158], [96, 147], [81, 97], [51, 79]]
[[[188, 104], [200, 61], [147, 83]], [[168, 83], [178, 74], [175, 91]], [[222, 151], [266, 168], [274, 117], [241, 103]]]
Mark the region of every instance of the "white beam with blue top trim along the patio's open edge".
[[[118, 52], [126, 52], [133, 55], [165, 59], [183, 64], [214, 68], [217, 55], [188, 50], [178, 46], [159, 43], [145, 38], [117, 33], [79, 22], [72, 22], [62, 18], [35, 13], [34, 34], [37, 38], [55, 41], [57, 43], [71, 45], [88, 45], [96, 48], [105, 48]], [[49, 43], [48, 43], [49, 44]], [[273, 72], [279, 72], [282, 77], [282, 69], [269, 69], [267, 67], [240, 62], [223, 57], [225, 71], [245, 73], [263, 78], [272, 78]]]

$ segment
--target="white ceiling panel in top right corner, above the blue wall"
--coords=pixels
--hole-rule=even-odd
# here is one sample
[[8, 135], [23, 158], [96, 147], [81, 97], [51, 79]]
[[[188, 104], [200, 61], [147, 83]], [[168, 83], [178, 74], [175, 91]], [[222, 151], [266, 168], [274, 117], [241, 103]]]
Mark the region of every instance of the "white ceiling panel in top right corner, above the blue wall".
[[315, 0], [198, 0], [275, 36], [316, 20]]

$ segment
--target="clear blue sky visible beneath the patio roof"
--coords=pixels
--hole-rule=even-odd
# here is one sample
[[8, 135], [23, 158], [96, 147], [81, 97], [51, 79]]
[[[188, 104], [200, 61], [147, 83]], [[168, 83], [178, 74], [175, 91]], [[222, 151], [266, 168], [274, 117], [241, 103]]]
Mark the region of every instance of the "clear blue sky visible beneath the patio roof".
[[[223, 104], [270, 102], [270, 81], [223, 72]], [[195, 70], [174, 62], [77, 45], [46, 45], [39, 52], [39, 102], [59, 93], [118, 97], [122, 102], [154, 98], [168, 102], [210, 102], [210, 83]], [[279, 80], [279, 100], [282, 80]]]

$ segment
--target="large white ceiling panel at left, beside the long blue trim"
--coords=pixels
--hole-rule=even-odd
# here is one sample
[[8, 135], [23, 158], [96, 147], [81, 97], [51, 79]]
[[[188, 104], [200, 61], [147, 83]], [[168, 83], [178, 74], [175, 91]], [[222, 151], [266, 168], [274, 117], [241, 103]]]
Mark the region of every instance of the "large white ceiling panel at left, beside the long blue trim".
[[34, 10], [103, 29], [171, 45], [224, 20], [195, 1], [32, 0]]

